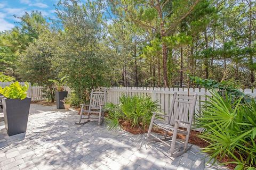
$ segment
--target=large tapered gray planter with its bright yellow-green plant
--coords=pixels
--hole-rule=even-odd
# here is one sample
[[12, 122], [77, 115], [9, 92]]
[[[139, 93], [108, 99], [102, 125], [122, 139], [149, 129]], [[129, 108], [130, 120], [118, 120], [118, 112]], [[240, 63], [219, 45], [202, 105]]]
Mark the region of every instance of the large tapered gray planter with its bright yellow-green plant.
[[21, 86], [18, 81], [4, 89], [3, 94], [4, 124], [9, 136], [24, 133], [27, 130], [28, 114], [31, 98], [27, 97], [28, 83]]

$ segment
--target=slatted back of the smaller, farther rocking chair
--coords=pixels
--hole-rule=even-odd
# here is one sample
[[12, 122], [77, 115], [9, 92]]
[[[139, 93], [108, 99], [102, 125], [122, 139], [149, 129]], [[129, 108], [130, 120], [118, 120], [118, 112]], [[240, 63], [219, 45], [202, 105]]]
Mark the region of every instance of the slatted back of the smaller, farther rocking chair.
[[91, 92], [91, 98], [90, 98], [90, 109], [100, 109], [100, 105], [103, 105], [106, 103], [106, 90], [104, 91], [93, 91]]

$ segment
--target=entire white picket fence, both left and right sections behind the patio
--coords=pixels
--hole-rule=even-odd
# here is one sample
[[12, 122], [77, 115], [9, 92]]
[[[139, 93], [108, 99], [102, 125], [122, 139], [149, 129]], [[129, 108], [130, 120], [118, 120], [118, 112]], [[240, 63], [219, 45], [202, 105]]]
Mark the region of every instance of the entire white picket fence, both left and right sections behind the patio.
[[[0, 82], [0, 87], [9, 86], [11, 82]], [[24, 82], [20, 82], [20, 84], [24, 84]], [[29, 83], [28, 96], [31, 97], [32, 101], [44, 100], [43, 87], [41, 86], [31, 86]], [[119, 97], [124, 93], [128, 95], [146, 95], [150, 96], [153, 100], [157, 100], [159, 111], [164, 112], [165, 114], [169, 114], [170, 112], [170, 104], [173, 98], [174, 92], [177, 92], [178, 95], [192, 95], [197, 94], [197, 103], [196, 103], [196, 112], [198, 114], [201, 113], [202, 104], [206, 100], [206, 95], [210, 95], [204, 88], [153, 88], [153, 87], [110, 87], [108, 89], [107, 102], [111, 102], [114, 104], [119, 103]], [[66, 87], [67, 91], [71, 91], [68, 87]], [[256, 89], [240, 89], [246, 95], [250, 95], [252, 97], [256, 97]]]

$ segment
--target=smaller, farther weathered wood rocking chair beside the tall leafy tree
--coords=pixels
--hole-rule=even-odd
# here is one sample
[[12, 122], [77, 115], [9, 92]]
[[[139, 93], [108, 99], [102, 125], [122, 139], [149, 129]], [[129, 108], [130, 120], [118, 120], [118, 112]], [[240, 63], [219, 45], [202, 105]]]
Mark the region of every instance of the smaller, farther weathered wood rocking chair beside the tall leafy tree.
[[[84, 123], [87, 123], [89, 121], [98, 121], [99, 125], [102, 124], [104, 120], [104, 112], [102, 111], [103, 106], [106, 103], [106, 96], [107, 96], [107, 90], [104, 91], [91, 91], [91, 97], [90, 97], [90, 103], [89, 105], [81, 104], [81, 112], [79, 117], [79, 124], [81, 124], [81, 120], [85, 119], [87, 120]], [[85, 108], [88, 109], [85, 109]], [[86, 117], [83, 117], [83, 114], [86, 113], [87, 115], [84, 115]], [[93, 114], [99, 114], [99, 117], [90, 117], [90, 115]]]

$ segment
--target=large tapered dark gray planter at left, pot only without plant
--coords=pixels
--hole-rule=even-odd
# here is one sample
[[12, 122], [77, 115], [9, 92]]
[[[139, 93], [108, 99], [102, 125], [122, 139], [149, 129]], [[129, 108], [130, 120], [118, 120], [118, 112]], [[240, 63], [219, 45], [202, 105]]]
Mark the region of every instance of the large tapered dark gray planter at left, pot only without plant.
[[2, 101], [4, 124], [8, 135], [26, 132], [31, 98], [27, 97], [23, 100], [2, 98]]

